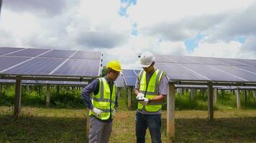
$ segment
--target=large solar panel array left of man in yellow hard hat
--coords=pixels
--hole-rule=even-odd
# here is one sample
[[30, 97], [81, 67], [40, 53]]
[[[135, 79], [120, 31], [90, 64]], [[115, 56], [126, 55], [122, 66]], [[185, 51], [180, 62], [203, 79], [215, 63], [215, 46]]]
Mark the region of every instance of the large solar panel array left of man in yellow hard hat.
[[0, 47], [0, 74], [99, 77], [100, 51]]

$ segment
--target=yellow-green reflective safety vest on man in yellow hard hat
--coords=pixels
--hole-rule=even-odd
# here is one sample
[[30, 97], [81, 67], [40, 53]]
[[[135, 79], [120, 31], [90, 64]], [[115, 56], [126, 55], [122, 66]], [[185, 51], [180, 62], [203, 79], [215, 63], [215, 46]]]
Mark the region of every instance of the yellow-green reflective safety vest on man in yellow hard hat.
[[[116, 100], [116, 85], [113, 85], [112, 94], [110, 93], [109, 83], [106, 82], [104, 77], [99, 78], [99, 92], [96, 95], [93, 95], [93, 99], [91, 100], [93, 107], [97, 109], [101, 109], [103, 113], [101, 117], [97, 117], [93, 112], [89, 112], [89, 115], [93, 114], [95, 117], [106, 120], [109, 119], [111, 114], [113, 114], [114, 103]], [[110, 114], [111, 112], [111, 114]], [[111, 116], [113, 119], [113, 116]]]

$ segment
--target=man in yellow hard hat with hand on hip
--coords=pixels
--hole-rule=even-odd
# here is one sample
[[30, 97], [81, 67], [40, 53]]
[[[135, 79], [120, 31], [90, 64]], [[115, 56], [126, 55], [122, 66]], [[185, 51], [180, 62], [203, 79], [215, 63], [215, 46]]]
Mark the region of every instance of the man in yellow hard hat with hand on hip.
[[[119, 61], [109, 61], [106, 65], [107, 74], [93, 80], [81, 93], [84, 104], [90, 109], [89, 142], [109, 142], [112, 131], [112, 121], [116, 112], [117, 96], [114, 81], [119, 77], [121, 64]], [[92, 99], [90, 94], [93, 93]]]

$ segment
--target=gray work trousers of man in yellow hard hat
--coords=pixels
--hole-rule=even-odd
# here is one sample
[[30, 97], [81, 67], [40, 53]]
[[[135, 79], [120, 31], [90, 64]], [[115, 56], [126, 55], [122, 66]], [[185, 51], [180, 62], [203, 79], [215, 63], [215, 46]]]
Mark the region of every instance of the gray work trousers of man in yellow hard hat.
[[89, 143], [106, 143], [112, 132], [113, 122], [102, 122], [96, 117], [90, 118]]

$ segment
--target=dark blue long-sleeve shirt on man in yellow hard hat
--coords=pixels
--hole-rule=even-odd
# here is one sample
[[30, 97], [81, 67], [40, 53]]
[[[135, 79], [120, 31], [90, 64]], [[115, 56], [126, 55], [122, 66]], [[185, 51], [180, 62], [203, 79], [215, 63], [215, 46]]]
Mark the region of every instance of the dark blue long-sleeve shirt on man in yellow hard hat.
[[[109, 83], [110, 93], [113, 92], [114, 82], [110, 82], [109, 79], [105, 76], [106, 82]], [[81, 92], [81, 96], [83, 99], [83, 103], [88, 107], [89, 109], [93, 109], [93, 104], [91, 103], [91, 93], [93, 92], [94, 95], [99, 93], [99, 79], [94, 79], [93, 82], [88, 84], [84, 89], [83, 92]], [[114, 103], [114, 107], [118, 107], [117, 102], [117, 96], [116, 101]]]

